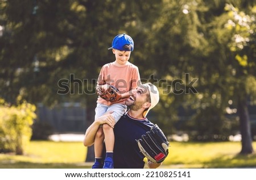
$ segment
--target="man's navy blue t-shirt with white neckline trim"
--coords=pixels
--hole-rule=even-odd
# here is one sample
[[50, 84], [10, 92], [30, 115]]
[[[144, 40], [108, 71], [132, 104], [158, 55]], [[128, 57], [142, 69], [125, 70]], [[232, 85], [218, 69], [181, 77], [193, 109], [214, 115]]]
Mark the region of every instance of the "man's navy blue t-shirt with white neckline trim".
[[154, 125], [147, 118], [138, 120], [131, 118], [127, 112], [114, 127], [114, 168], [142, 169], [144, 155], [140, 152], [137, 140]]

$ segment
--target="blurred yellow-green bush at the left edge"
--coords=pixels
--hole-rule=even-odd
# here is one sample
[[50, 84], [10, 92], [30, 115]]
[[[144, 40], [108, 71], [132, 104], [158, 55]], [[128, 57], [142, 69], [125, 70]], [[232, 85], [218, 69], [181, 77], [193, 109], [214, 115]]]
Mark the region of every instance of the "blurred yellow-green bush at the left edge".
[[32, 135], [35, 106], [27, 102], [9, 106], [3, 99], [0, 101], [0, 151], [23, 154]]

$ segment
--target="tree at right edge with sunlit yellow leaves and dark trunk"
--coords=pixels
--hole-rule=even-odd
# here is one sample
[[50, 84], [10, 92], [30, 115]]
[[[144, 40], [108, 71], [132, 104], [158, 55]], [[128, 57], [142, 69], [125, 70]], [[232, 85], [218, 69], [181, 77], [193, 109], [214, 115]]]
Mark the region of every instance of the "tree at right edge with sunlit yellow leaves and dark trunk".
[[[242, 135], [241, 154], [251, 154], [254, 152], [252, 146], [250, 117], [248, 112], [248, 100], [253, 101], [256, 95], [256, 25], [253, 13], [256, 12], [256, 6], [249, 9], [247, 15], [233, 5], [227, 4], [225, 9], [230, 15], [226, 28], [232, 32], [233, 40], [229, 47], [233, 52], [237, 66], [234, 76], [238, 79], [234, 86], [237, 96], [238, 115], [240, 117], [240, 130]], [[242, 90], [241, 90], [242, 87]]]

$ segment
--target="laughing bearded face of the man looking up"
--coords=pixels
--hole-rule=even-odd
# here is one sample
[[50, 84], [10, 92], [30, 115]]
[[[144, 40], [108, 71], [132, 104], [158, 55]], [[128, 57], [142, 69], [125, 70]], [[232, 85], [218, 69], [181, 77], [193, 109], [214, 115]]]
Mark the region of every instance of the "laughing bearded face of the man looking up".
[[147, 87], [139, 86], [137, 90], [133, 91], [130, 98], [126, 100], [125, 104], [131, 110], [139, 110], [144, 103], [147, 102], [147, 96], [149, 95], [149, 91]]

